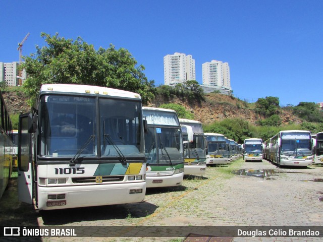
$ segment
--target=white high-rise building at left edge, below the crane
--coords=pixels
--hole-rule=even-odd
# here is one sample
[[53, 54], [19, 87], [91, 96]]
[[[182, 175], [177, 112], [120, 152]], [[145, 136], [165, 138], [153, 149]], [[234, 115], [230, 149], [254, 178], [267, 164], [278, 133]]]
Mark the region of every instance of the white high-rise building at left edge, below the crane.
[[26, 71], [19, 72], [19, 64], [19, 62], [0, 62], [0, 82], [6, 82], [8, 86], [22, 84], [26, 80]]

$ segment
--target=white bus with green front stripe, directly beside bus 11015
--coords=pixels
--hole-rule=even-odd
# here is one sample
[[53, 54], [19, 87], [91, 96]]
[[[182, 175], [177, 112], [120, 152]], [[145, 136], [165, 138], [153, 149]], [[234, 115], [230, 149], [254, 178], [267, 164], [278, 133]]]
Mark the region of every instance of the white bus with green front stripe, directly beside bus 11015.
[[182, 185], [183, 139], [176, 112], [153, 107], [143, 107], [142, 112], [148, 126], [145, 134], [146, 187]]

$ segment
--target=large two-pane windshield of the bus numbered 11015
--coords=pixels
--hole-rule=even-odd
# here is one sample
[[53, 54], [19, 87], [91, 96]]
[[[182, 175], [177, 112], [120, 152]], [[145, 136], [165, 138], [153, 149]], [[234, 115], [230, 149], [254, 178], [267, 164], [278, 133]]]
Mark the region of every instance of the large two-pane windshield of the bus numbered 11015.
[[[119, 156], [114, 145], [125, 156], [139, 155], [139, 110], [140, 102], [123, 99], [98, 98], [97, 104], [90, 96], [43, 95], [39, 104], [40, 155]], [[98, 125], [100, 136], [96, 135]], [[97, 147], [99, 139], [101, 145]]]

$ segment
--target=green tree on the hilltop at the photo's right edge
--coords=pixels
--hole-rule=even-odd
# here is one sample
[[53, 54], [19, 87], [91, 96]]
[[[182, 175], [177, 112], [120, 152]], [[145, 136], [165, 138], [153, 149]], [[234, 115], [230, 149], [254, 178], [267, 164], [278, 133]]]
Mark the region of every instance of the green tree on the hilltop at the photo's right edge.
[[300, 102], [293, 107], [293, 114], [305, 119], [307, 122], [323, 123], [323, 112], [315, 102]]

